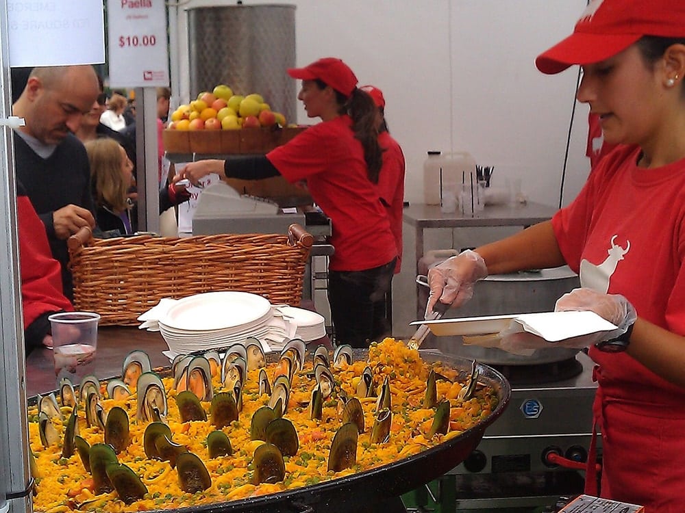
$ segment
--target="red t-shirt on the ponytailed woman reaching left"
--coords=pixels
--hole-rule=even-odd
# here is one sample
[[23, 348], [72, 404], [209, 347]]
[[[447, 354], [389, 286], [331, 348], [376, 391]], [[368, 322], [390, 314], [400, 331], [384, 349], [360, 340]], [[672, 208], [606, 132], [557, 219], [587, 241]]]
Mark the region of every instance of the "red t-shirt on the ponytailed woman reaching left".
[[351, 124], [349, 116], [315, 124], [266, 154], [290, 183], [306, 180], [314, 202], [331, 218], [335, 253], [329, 269], [334, 271], [373, 269], [397, 256], [390, 221]]

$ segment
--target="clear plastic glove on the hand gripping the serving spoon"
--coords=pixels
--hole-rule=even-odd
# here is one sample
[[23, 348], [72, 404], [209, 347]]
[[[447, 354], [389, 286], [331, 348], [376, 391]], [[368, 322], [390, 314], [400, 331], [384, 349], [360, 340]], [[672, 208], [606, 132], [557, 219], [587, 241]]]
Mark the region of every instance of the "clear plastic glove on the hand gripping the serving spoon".
[[452, 306], [462, 306], [473, 298], [473, 285], [488, 276], [488, 267], [477, 252], [462, 251], [443, 263], [428, 270], [430, 295], [426, 305], [426, 317], [440, 300]]

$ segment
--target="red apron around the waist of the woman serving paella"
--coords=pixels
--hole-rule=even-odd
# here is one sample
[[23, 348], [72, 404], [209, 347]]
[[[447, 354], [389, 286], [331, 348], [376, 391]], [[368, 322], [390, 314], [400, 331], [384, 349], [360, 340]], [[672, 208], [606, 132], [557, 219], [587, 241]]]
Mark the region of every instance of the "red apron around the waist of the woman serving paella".
[[[645, 369], [646, 371], [646, 369]], [[640, 504], [646, 513], [685, 512], [685, 397], [620, 383], [595, 367], [599, 383], [593, 418], [601, 430], [601, 497]], [[586, 493], [597, 495], [596, 436], [590, 447]]]

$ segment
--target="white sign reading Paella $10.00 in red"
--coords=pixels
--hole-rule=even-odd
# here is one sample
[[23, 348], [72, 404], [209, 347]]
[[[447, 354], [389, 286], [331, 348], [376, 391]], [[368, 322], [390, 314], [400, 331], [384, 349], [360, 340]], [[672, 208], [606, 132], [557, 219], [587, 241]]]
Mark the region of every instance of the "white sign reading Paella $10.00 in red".
[[164, 0], [108, 0], [110, 87], [169, 86]]

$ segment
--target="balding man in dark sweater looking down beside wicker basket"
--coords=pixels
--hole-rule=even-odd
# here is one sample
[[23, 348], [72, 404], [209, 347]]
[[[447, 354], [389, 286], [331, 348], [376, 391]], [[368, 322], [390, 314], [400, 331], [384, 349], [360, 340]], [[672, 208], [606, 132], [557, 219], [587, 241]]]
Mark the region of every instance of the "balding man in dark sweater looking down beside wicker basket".
[[99, 94], [92, 66], [34, 68], [12, 114], [25, 126], [14, 136], [16, 178], [45, 225], [53, 257], [62, 266], [64, 295], [73, 300], [66, 239], [95, 228], [86, 150], [73, 133]]

